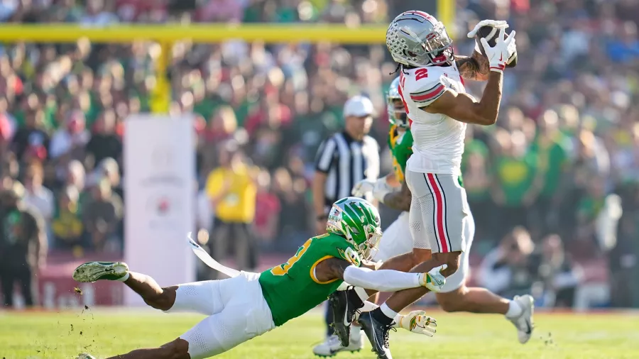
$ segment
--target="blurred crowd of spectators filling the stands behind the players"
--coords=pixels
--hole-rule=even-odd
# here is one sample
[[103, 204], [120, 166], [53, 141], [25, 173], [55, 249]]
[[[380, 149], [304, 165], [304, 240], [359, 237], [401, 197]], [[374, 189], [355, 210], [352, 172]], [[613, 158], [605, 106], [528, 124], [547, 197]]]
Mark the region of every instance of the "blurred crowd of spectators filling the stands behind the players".
[[[357, 26], [388, 22], [393, 2], [1, 0], [0, 21]], [[606, 282], [588, 306], [639, 306], [639, 1], [457, 0], [449, 32], [459, 55], [471, 53], [465, 34], [484, 18], [508, 20], [521, 58], [506, 71], [497, 125], [466, 136], [475, 280], [495, 276], [486, 283], [495, 292], [532, 291], [551, 306], [574, 306], [586, 282]], [[50, 253], [122, 250], [123, 121], [150, 110], [158, 50], [86, 39], [0, 45], [0, 187], [35, 209]], [[373, 100], [371, 135], [386, 143], [394, 70], [383, 45], [175, 43], [170, 113], [197, 115], [197, 226], [243, 231], [245, 242], [227, 244], [247, 267], [260, 250], [300, 245], [312, 233], [317, 146], [339, 131], [354, 94]], [[481, 95], [481, 83], [467, 87]], [[386, 173], [387, 148], [382, 158]], [[16, 246], [6, 233], [20, 226], [7, 213], [0, 263]], [[393, 215], [384, 209], [384, 223]], [[229, 221], [243, 226], [219, 226]], [[226, 247], [211, 249], [220, 258]]]

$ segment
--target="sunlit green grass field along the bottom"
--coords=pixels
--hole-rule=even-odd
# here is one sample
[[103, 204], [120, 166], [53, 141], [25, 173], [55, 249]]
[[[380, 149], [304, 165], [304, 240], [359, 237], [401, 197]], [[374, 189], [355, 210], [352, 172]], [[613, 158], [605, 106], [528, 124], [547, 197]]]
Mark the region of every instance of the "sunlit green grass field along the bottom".
[[[395, 359], [639, 358], [637, 314], [551, 314], [535, 316], [535, 334], [521, 346], [514, 327], [501, 316], [445, 314], [432, 311], [438, 332], [427, 338], [391, 332]], [[77, 312], [0, 313], [0, 358], [75, 358], [89, 352], [97, 358], [172, 340], [202, 317], [148, 311], [84, 310]], [[312, 311], [271, 333], [217, 358], [313, 358], [311, 348], [322, 338], [322, 312]], [[375, 358], [370, 345], [359, 353], [336, 358]]]

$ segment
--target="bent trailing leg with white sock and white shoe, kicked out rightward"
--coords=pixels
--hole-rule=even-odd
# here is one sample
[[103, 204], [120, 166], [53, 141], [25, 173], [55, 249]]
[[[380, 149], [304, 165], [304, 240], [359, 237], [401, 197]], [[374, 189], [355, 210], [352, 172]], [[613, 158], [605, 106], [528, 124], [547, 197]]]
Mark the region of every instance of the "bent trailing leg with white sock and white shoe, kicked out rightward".
[[444, 311], [467, 311], [471, 313], [503, 314], [518, 329], [521, 343], [526, 343], [532, 334], [532, 297], [515, 297], [508, 300], [485, 288], [466, 287], [469, 275], [469, 256], [474, 238], [475, 223], [473, 216], [465, 219], [464, 232], [467, 248], [461, 253], [459, 270], [446, 279], [446, 285], [437, 293], [437, 302]]

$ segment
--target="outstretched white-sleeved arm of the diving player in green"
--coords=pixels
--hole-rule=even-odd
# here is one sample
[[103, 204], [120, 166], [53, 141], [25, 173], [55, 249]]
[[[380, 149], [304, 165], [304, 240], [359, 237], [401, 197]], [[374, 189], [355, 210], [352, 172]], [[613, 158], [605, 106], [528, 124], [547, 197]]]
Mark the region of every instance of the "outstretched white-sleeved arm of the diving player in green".
[[[398, 290], [427, 287], [432, 285], [430, 273], [407, 273], [396, 270], [371, 270], [356, 267], [346, 260], [328, 258], [315, 267], [315, 277], [320, 282], [344, 280], [349, 285], [373, 289], [378, 292], [397, 292]], [[444, 277], [437, 278], [444, 280]], [[443, 283], [441, 283], [443, 285]]]

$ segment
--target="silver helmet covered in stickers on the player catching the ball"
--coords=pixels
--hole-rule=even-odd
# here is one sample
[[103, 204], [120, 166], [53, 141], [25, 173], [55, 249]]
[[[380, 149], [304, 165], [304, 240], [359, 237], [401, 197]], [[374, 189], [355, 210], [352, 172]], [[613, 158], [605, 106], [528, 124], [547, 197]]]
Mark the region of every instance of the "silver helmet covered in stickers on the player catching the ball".
[[395, 62], [424, 67], [454, 60], [452, 39], [444, 24], [424, 11], [406, 11], [386, 31], [386, 47]]

